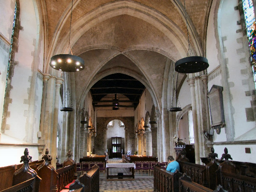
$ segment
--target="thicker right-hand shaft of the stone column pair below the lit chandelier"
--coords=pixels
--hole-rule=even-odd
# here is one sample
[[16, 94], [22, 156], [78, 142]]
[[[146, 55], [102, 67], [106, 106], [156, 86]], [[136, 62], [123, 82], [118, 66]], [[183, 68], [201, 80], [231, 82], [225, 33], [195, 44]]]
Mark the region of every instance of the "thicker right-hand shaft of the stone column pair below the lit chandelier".
[[59, 110], [59, 93], [63, 79], [56, 78], [55, 81], [55, 99], [52, 125], [52, 142], [51, 142], [51, 165], [56, 169], [56, 155], [57, 155], [57, 128], [58, 128], [58, 110]]

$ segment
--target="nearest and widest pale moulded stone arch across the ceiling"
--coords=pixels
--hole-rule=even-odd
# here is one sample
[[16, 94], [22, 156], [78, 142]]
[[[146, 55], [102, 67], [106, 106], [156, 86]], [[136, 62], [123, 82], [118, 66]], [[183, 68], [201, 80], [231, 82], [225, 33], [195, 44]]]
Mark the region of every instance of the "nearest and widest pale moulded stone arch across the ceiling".
[[[69, 16], [70, 9], [68, 9], [66, 12], [67, 13], [64, 14], [65, 18], [62, 21], [66, 20], [66, 18]], [[131, 0], [122, 0], [113, 3], [106, 3], [105, 5], [94, 9], [93, 12], [89, 12], [85, 14], [83, 17], [81, 17], [81, 19], [76, 21], [71, 28], [72, 34], [75, 34], [70, 40], [71, 47], [73, 47], [75, 42], [78, 41], [78, 39], [81, 37], [81, 34], [84, 34], [84, 32], [86, 32], [91, 27], [95, 26], [97, 23], [100, 23], [108, 18], [123, 14], [140, 18], [152, 24], [153, 26], [156, 26], [156, 28], [163, 32], [170, 39], [170, 41], [174, 42], [177, 49], [180, 50], [180, 57], [186, 56], [186, 45], [188, 40], [186, 35], [183, 34], [182, 30], [177, 25], [175, 25], [175, 23], [169, 20], [169, 18], [167, 18], [160, 12], [157, 12], [154, 9], [150, 9], [145, 5], [142, 5]], [[184, 15], [181, 14], [181, 17], [184, 17]], [[53, 53], [57, 54], [60, 52], [68, 52], [67, 41], [62, 41], [60, 46], [56, 49], [56, 42], [58, 41], [58, 38], [66, 40], [68, 39], [64, 37], [59, 37], [64, 24], [65, 22], [60, 22], [60, 24], [56, 27], [55, 34], [53, 35], [53, 41], [50, 45], [50, 51], [46, 61], [46, 63], [48, 64], [47, 70], [49, 69], [50, 56], [53, 55]], [[191, 26], [193, 26], [192, 23], [190, 23], [189, 25], [190, 32], [193, 31]], [[192, 35], [192, 37], [193, 38], [191, 41], [193, 41], [194, 44], [196, 45], [196, 47], [194, 48], [195, 52], [197, 53], [197, 55], [201, 55], [202, 51], [198, 43], [200, 42], [200, 40], [195, 35]], [[177, 56], [175, 56], [175, 58], [176, 57]]]

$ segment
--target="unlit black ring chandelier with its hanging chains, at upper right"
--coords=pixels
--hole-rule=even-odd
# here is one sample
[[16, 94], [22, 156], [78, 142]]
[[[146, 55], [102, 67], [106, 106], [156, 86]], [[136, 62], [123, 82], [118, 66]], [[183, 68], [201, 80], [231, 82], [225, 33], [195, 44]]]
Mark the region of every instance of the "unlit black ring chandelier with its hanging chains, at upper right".
[[[189, 42], [189, 29], [188, 29], [188, 20], [186, 14], [186, 6], [184, 0], [184, 9], [186, 16], [186, 28], [188, 33], [188, 42]], [[182, 58], [175, 63], [175, 71], [178, 73], [197, 73], [203, 70], [206, 70], [209, 67], [207, 58], [201, 56], [194, 56], [192, 49], [188, 47], [188, 53], [186, 58]]]

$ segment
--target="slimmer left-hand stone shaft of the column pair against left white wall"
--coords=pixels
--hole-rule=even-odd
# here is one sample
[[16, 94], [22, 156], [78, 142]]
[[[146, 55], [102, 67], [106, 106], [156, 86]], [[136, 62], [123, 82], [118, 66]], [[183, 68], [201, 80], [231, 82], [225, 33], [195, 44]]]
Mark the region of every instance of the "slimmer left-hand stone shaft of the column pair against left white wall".
[[[41, 131], [41, 135], [42, 137], [40, 137], [38, 139], [38, 144], [40, 145], [44, 145], [44, 116], [45, 116], [45, 103], [46, 103], [46, 93], [47, 93], [47, 81], [48, 79], [50, 79], [50, 75], [49, 74], [44, 74], [43, 76], [43, 95], [42, 95], [42, 104], [41, 104], [41, 121], [40, 121], [40, 131]], [[41, 155], [39, 156], [39, 158], [41, 159], [43, 151], [44, 151], [44, 147], [40, 147], [38, 148], [38, 152], [41, 153]]]

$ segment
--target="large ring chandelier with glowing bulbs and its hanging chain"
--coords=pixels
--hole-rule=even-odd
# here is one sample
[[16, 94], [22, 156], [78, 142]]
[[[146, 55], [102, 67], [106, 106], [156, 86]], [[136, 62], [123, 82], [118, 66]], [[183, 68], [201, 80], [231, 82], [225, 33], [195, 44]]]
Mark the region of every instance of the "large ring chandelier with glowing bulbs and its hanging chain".
[[[73, 12], [73, 0], [71, 6], [71, 16], [70, 16], [70, 33], [71, 33], [71, 21], [72, 21], [72, 12]], [[68, 48], [70, 48], [70, 54], [60, 54], [54, 55], [51, 58], [50, 66], [59, 71], [64, 72], [77, 72], [84, 69], [84, 60], [76, 55], [73, 55], [71, 45], [70, 45], [70, 34]]]

